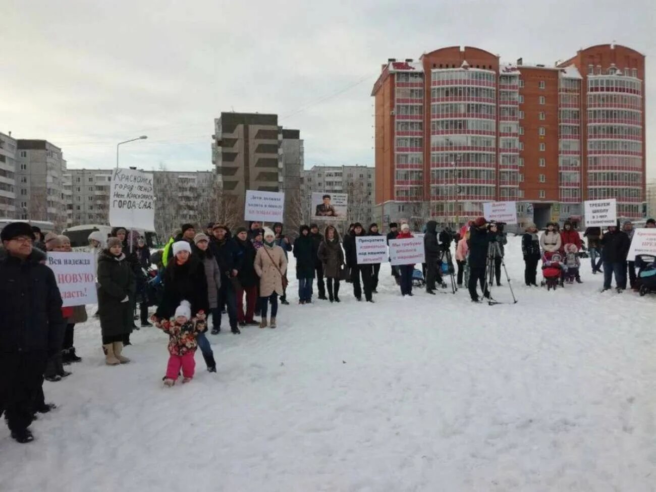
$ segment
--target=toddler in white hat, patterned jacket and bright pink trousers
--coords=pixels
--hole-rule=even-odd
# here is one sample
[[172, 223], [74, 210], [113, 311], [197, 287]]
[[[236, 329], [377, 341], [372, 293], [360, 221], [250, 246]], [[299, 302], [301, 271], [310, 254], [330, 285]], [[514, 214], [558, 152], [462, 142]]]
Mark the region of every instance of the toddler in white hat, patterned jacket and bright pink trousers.
[[164, 384], [173, 386], [182, 368], [182, 382], [190, 382], [194, 377], [194, 354], [198, 348], [196, 337], [205, 331], [205, 313], [198, 312], [192, 319], [192, 306], [183, 300], [170, 320], [161, 321], [158, 328], [169, 334], [169, 364], [167, 365]]

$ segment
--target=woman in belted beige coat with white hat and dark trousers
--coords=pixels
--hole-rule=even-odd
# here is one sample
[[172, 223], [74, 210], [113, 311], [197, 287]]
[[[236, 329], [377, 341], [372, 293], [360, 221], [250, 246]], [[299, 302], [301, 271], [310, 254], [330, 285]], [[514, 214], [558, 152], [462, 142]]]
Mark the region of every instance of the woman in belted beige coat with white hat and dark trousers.
[[276, 327], [276, 314], [278, 312], [278, 296], [283, 295], [283, 276], [287, 272], [287, 258], [285, 251], [276, 245], [276, 234], [264, 229], [264, 246], [257, 250], [255, 255], [255, 272], [260, 277], [260, 309], [262, 321], [260, 328], [266, 328], [266, 311], [271, 302], [270, 327]]

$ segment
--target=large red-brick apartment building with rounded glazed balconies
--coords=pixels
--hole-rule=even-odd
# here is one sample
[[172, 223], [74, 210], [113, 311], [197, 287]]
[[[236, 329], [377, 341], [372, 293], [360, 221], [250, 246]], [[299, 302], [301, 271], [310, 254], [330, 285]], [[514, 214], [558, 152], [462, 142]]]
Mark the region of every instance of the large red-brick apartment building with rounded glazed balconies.
[[461, 224], [508, 200], [542, 226], [615, 197], [620, 216], [642, 218], [644, 73], [619, 45], [552, 67], [472, 47], [388, 60], [371, 94], [377, 216]]

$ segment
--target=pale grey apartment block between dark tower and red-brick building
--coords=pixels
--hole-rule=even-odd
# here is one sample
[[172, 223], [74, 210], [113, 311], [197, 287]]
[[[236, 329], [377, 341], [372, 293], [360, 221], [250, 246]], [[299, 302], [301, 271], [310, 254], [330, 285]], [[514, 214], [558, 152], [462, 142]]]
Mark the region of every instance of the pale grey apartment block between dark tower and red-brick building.
[[313, 193], [348, 194], [348, 216], [339, 224], [342, 232], [351, 222], [361, 222], [368, 227], [373, 222], [380, 225], [380, 217], [374, 214], [375, 168], [354, 166], [313, 166], [303, 171], [302, 210], [303, 223], [316, 222], [312, 218]]

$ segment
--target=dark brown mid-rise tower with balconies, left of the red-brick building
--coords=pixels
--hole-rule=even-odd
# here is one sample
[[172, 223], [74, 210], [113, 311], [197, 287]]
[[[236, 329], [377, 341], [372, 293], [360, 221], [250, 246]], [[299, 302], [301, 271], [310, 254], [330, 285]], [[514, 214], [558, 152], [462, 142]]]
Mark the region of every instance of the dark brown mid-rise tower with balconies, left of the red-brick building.
[[[303, 163], [300, 131], [283, 129], [275, 114], [221, 113], [215, 119], [212, 163], [220, 190], [243, 220], [247, 190], [285, 191], [285, 222], [296, 222]], [[289, 182], [287, 182], [289, 180]]]

